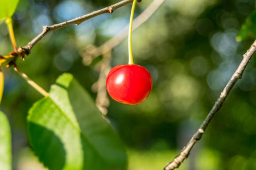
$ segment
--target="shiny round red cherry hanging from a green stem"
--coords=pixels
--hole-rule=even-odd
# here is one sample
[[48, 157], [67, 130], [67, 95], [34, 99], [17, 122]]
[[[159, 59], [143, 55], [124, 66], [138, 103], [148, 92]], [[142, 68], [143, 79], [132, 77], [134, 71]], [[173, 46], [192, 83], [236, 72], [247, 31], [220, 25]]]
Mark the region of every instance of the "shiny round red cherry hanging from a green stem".
[[140, 104], [150, 94], [152, 77], [139, 65], [118, 65], [110, 70], [106, 79], [109, 95], [119, 103]]

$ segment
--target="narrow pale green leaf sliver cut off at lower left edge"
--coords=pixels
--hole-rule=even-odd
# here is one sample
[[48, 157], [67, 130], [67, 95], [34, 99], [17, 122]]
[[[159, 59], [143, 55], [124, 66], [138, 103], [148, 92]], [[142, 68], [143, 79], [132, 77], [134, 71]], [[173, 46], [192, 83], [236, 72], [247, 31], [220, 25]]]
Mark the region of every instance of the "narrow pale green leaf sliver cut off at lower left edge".
[[11, 130], [5, 114], [0, 111], [0, 169], [11, 170]]

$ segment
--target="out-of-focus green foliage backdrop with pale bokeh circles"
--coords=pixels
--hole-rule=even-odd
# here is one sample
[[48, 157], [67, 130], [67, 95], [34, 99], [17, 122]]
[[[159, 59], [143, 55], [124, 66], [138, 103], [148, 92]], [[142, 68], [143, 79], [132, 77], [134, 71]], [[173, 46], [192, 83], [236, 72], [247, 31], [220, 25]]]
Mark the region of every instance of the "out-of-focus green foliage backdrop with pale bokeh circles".
[[[117, 2], [20, 0], [13, 16], [17, 44], [27, 45], [44, 25]], [[137, 3], [135, 17], [152, 2]], [[199, 128], [253, 43], [254, 39], [237, 42], [236, 37], [255, 10], [255, 1], [164, 1], [133, 32], [134, 63], [146, 67], [153, 78], [150, 96], [135, 106], [110, 99], [104, 88], [108, 70], [128, 62], [127, 39], [107, 53], [97, 51], [129, 23], [130, 10], [131, 4], [49, 33], [26, 61], [18, 59], [18, 66], [47, 91], [60, 74], [73, 74], [125, 143], [129, 170], [163, 169]], [[0, 50], [2, 55], [13, 50], [5, 24], [0, 25]], [[30, 151], [26, 134], [28, 109], [42, 96], [13, 69], [3, 71], [5, 91], [0, 108], [11, 124], [13, 169], [44, 169]], [[253, 58], [179, 169], [256, 169], [255, 84]]]

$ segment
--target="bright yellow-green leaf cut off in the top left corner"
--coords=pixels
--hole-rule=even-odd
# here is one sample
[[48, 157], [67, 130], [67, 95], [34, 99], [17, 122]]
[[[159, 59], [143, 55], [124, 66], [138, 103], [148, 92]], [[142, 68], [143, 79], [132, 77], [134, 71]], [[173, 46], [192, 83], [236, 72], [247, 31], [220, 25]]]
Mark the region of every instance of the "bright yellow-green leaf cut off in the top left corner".
[[19, 0], [0, 0], [0, 20], [13, 16]]

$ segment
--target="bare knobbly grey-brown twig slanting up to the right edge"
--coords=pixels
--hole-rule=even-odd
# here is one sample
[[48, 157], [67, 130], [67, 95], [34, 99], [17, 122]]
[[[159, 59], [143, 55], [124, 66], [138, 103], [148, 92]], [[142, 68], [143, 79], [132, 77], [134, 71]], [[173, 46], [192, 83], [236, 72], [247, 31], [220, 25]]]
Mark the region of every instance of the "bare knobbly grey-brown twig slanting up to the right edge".
[[253, 42], [253, 45], [251, 45], [250, 49], [247, 50], [245, 54], [243, 54], [243, 59], [238, 66], [236, 72], [233, 74], [232, 78], [229, 80], [228, 84], [226, 84], [226, 87], [221, 92], [220, 97], [218, 97], [216, 103], [214, 104], [212, 110], [209, 112], [207, 117], [205, 118], [203, 124], [201, 124], [200, 128], [196, 131], [196, 133], [193, 135], [193, 137], [190, 139], [190, 141], [187, 143], [187, 146], [183, 148], [183, 150], [180, 151], [180, 154], [175, 157], [172, 162], [168, 163], [166, 167], [164, 167], [164, 170], [170, 170], [179, 168], [180, 164], [189, 156], [189, 152], [192, 150], [192, 147], [195, 145], [197, 141], [199, 141], [204, 134], [205, 129], [209, 125], [212, 118], [216, 115], [216, 113], [220, 110], [222, 104], [224, 103], [226, 97], [228, 96], [230, 90], [234, 87], [234, 84], [236, 84], [238, 79], [242, 78], [243, 71], [245, 71], [246, 66], [250, 62], [251, 57], [253, 57], [255, 51], [256, 51], [256, 40]]

